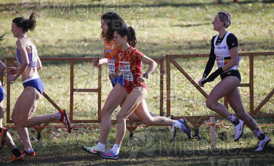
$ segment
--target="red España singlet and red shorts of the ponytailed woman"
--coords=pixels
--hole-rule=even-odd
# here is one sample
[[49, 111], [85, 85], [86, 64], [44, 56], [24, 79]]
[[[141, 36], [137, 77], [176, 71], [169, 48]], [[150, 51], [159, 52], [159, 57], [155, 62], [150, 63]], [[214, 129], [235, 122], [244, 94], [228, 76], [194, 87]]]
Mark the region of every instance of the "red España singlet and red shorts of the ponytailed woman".
[[144, 56], [141, 51], [136, 48], [129, 47], [127, 50], [117, 50], [119, 57], [119, 70], [122, 72], [125, 80], [125, 88], [128, 94], [134, 87], [140, 86], [147, 90], [145, 82], [137, 81], [137, 78], [142, 75], [142, 61]]

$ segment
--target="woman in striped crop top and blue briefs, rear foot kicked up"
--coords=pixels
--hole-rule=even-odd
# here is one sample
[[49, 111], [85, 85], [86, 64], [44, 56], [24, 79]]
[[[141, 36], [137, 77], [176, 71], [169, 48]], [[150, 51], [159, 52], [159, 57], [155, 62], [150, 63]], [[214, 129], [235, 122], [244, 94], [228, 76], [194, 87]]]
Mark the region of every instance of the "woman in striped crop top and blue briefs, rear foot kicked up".
[[20, 75], [24, 90], [18, 97], [12, 111], [12, 121], [16, 126], [16, 130], [22, 140], [24, 156], [35, 156], [33, 151], [28, 130], [26, 127], [36, 126], [53, 120], [60, 120], [68, 132], [71, 130], [70, 121], [65, 110], [57, 113], [39, 115], [32, 117], [36, 110], [38, 99], [44, 91], [44, 85], [37, 70], [41, 68], [41, 61], [38, 57], [37, 49], [33, 42], [26, 37], [28, 30], [33, 31], [36, 26], [35, 13], [32, 13], [29, 19], [17, 17], [12, 20], [12, 33], [18, 40], [16, 41], [16, 57], [19, 67], [8, 67], [7, 72], [10, 74], [7, 78], [8, 82], [15, 81]]

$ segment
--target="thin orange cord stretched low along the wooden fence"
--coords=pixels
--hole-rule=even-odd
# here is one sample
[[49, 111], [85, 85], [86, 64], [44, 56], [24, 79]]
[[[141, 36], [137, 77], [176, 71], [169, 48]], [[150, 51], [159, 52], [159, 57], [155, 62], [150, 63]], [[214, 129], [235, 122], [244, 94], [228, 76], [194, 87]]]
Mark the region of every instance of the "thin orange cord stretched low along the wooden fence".
[[[188, 126], [234, 126], [234, 125], [223, 125], [223, 124], [189, 124]], [[257, 126], [274, 126], [274, 125], [257, 125]], [[15, 128], [15, 126], [4, 126], [5, 128]], [[63, 128], [65, 126], [32, 126], [33, 128]], [[77, 127], [101, 127], [101, 126], [72, 126], [72, 128]], [[117, 126], [111, 126], [111, 127], [117, 127]], [[149, 127], [146, 125], [133, 125], [133, 126], [127, 126], [127, 127]]]

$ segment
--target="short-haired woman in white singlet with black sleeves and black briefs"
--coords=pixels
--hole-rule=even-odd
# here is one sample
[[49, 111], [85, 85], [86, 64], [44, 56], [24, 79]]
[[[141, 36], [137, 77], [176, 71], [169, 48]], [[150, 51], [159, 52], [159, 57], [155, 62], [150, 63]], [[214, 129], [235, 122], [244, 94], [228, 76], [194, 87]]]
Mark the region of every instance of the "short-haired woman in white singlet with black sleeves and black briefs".
[[[240, 57], [238, 56], [238, 41], [236, 36], [227, 30], [231, 22], [232, 17], [228, 12], [219, 12], [212, 22], [213, 29], [218, 31], [219, 34], [213, 36], [211, 40], [209, 60], [206, 64], [202, 79], [198, 81], [198, 83], [199, 86], [204, 87], [206, 82], [211, 82], [220, 75], [221, 81], [209, 93], [206, 106], [226, 117], [234, 124], [234, 141], [240, 139], [243, 134], [244, 124], [246, 124], [259, 139], [257, 144], [258, 148], [256, 149], [256, 151], [259, 151], [270, 142], [270, 139], [262, 133], [254, 119], [244, 110], [238, 90], [241, 82], [241, 75], [238, 71], [240, 61]], [[215, 60], [218, 69], [206, 78], [212, 70]], [[217, 102], [224, 96], [226, 96], [229, 105], [241, 120], [233, 116], [224, 105]]]

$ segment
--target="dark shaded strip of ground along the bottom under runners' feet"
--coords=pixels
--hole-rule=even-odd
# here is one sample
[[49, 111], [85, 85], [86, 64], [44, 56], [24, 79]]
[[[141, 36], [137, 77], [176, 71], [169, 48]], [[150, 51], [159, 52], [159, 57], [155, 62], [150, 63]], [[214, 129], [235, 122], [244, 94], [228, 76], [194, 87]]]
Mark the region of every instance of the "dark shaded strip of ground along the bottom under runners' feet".
[[[61, 145], [60, 145], [61, 146]], [[23, 162], [0, 163], [0, 165], [210, 165], [222, 161], [228, 164], [246, 163], [246, 165], [272, 165], [274, 163], [274, 147], [270, 144], [262, 151], [255, 151], [254, 147], [219, 149], [219, 150], [162, 150], [153, 151], [153, 155], [136, 152], [120, 152], [118, 160], [104, 159], [96, 154], [88, 154], [75, 146], [73, 152], [61, 148], [37, 151], [36, 157], [26, 157]], [[61, 150], [63, 149], [63, 150]], [[7, 158], [7, 157], [6, 157]], [[2, 158], [3, 159], [3, 158]], [[6, 159], [7, 160], [7, 159]]]

